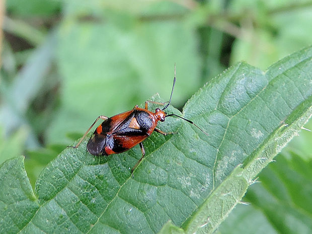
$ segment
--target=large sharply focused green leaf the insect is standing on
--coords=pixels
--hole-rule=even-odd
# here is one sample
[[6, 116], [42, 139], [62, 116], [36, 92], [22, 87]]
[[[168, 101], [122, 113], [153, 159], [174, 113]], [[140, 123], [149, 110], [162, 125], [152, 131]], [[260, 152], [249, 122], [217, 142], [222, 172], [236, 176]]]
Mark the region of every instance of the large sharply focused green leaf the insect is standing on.
[[[144, 141], [146, 155], [133, 179], [138, 146], [108, 157], [90, 155], [88, 139], [77, 149], [66, 148], [36, 182], [35, 214], [14, 225], [20, 233], [157, 233], [172, 220], [176, 227], [169, 223], [163, 233], [183, 233], [178, 227], [212, 233], [311, 116], [311, 58], [312, 47], [266, 72], [246, 63], [226, 70], [180, 113], [209, 136], [186, 121], [167, 118], [158, 127], [176, 134], [153, 133]], [[167, 112], [179, 114], [172, 107]], [[8, 183], [0, 186], [10, 190]], [[6, 228], [4, 233], [12, 226]]]

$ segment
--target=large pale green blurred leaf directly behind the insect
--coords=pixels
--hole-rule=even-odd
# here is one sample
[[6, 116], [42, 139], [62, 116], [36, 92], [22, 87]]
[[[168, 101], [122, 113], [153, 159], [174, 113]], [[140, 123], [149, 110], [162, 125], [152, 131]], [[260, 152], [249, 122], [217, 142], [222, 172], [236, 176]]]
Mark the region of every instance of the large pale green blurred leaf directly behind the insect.
[[[68, 2], [66, 9], [75, 4]], [[194, 28], [180, 20], [148, 18], [164, 11], [182, 14], [184, 8], [159, 2], [139, 18], [113, 7], [119, 6], [96, 13], [71, 9], [64, 15], [57, 54], [62, 106], [47, 130], [50, 143], [64, 142], [68, 131], [83, 132], [100, 114], [132, 109], [155, 92], [169, 98], [175, 62], [180, 92], [174, 103], [183, 105], [200, 85]]]

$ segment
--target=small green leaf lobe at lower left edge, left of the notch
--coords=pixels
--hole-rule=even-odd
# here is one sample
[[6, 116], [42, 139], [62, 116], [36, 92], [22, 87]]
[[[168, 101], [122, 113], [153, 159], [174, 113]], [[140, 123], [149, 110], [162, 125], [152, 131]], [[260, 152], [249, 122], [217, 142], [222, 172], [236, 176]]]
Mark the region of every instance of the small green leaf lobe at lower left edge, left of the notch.
[[24, 157], [0, 165], [0, 188], [0, 233], [18, 233], [39, 208], [24, 168]]

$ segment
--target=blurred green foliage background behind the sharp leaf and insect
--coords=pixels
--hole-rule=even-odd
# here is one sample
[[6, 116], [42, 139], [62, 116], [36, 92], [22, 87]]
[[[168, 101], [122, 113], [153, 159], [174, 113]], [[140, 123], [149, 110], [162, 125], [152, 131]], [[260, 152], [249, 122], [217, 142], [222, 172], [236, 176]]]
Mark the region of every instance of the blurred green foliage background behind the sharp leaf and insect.
[[[174, 63], [172, 104], [182, 110], [194, 92], [228, 66], [245, 60], [266, 70], [312, 44], [311, 1], [3, 4], [0, 163], [24, 154], [33, 186], [42, 167], [82, 136], [100, 114], [130, 110], [155, 93], [167, 101]], [[312, 129], [311, 121], [306, 128]], [[282, 162], [286, 169], [289, 164], [289, 170], [300, 171], [299, 166], [291, 168], [296, 159], [312, 174], [311, 142], [312, 133], [302, 131], [277, 157], [276, 165]], [[276, 165], [260, 179], [265, 180], [265, 173]], [[246, 199], [256, 204], [252, 194]], [[235, 212], [253, 214], [251, 207]], [[273, 222], [266, 212], [261, 215]], [[226, 224], [223, 230], [226, 233]]]

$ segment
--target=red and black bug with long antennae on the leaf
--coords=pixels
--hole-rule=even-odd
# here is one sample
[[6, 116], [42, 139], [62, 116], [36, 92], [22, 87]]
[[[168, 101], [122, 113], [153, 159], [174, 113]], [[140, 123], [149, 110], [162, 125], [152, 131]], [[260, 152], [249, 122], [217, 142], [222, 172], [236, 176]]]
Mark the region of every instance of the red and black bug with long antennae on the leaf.
[[[173, 132], [163, 132], [160, 129], [156, 128], [158, 121], [164, 122], [165, 118], [169, 116], [176, 116], [181, 119], [186, 120], [187, 122], [193, 124], [198, 129], [200, 129], [203, 133], [208, 135], [205, 131], [203, 131], [200, 127], [198, 127], [191, 120], [185, 119], [176, 114], [167, 114], [164, 110], [171, 103], [171, 98], [173, 94], [173, 90], [176, 83], [176, 66], [175, 66], [175, 76], [172, 86], [172, 91], [170, 95], [169, 102], [159, 103], [153, 101], [146, 101], [145, 108], [139, 108], [137, 105], [130, 111], [126, 111], [113, 117], [106, 117], [104, 115], [100, 115], [94, 123], [89, 127], [86, 133], [83, 135], [81, 140], [73, 146], [77, 148], [83, 139], [86, 137], [91, 128], [96, 124], [99, 119], [104, 120], [102, 124], [100, 124], [93, 135], [88, 141], [87, 149], [93, 155], [110, 155], [114, 153], [124, 152], [133, 146], [139, 144], [142, 157], [135, 164], [135, 166], [131, 169], [131, 175], [133, 177], [133, 171], [138, 166], [138, 164], [142, 161], [145, 155], [145, 150], [142, 144], [142, 141], [145, 140], [153, 131], [159, 132], [163, 135], [172, 134]], [[155, 112], [151, 112], [148, 110], [148, 103], [159, 104], [159, 105], [167, 105], [163, 108], [156, 108]]]

